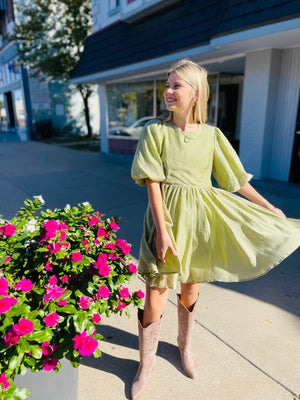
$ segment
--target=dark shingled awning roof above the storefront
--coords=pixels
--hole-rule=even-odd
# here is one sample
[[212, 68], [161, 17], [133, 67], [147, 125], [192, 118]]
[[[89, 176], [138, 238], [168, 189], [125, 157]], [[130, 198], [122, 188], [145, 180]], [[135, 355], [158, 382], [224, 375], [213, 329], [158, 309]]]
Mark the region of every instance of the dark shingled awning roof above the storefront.
[[135, 23], [119, 21], [88, 36], [72, 78], [203, 45], [213, 36], [299, 12], [299, 0], [180, 1]]

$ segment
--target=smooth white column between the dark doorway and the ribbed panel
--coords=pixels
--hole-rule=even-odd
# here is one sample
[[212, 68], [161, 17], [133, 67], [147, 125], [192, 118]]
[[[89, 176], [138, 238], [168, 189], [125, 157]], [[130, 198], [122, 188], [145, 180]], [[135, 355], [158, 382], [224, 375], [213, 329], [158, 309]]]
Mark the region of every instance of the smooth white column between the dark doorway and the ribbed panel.
[[246, 55], [239, 156], [257, 179], [270, 173], [280, 66], [280, 50]]

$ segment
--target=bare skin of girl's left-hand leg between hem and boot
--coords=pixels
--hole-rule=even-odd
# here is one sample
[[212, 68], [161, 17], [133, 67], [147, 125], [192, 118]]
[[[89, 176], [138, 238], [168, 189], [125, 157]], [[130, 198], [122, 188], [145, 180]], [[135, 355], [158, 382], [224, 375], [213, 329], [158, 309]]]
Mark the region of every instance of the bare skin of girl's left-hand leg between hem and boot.
[[146, 328], [162, 316], [167, 300], [169, 289], [146, 286], [146, 299], [143, 315], [143, 327]]

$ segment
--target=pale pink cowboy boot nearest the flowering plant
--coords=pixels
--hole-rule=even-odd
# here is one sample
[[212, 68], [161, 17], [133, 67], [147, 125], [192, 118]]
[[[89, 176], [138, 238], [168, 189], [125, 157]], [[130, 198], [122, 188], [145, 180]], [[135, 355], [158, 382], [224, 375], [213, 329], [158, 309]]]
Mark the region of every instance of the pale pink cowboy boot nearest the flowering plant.
[[143, 311], [138, 310], [140, 366], [132, 382], [132, 400], [137, 400], [147, 390], [147, 385], [156, 362], [156, 351], [160, 336], [162, 318], [163, 315], [158, 321], [154, 321], [146, 328], [143, 328]]

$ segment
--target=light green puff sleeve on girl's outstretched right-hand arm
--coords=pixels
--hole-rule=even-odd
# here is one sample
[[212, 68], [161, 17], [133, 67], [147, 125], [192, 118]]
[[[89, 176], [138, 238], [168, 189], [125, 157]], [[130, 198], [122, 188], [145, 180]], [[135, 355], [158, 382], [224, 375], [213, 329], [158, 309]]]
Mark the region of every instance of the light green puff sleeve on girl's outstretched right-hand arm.
[[248, 174], [226, 136], [216, 128], [213, 157], [213, 176], [221, 189], [236, 192], [253, 175]]

